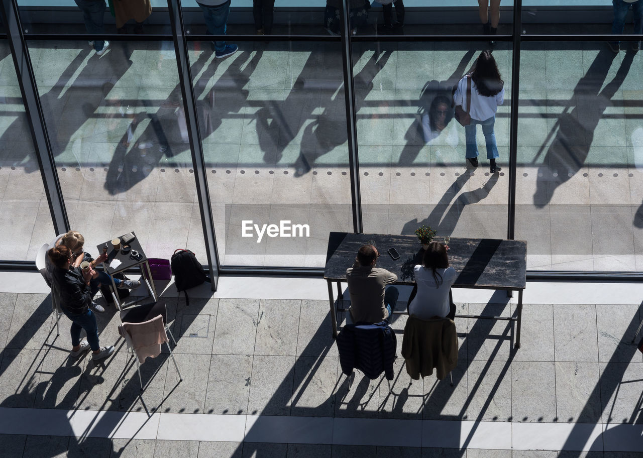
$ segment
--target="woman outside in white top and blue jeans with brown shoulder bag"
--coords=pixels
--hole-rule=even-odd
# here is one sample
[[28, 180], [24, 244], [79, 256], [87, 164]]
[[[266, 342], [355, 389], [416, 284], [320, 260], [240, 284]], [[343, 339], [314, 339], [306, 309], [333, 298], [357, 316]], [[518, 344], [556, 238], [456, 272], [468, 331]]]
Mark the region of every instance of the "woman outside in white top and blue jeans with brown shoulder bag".
[[493, 127], [496, 123], [498, 105], [502, 105], [505, 100], [505, 88], [503, 87], [505, 82], [500, 78], [500, 72], [491, 51], [482, 51], [476, 60], [473, 71], [460, 79], [458, 89], [453, 95], [455, 105], [466, 105], [467, 80], [469, 78], [471, 78], [471, 109], [469, 109], [471, 124], [464, 126], [467, 143], [466, 158], [473, 167], [478, 167], [476, 126], [480, 124], [487, 145], [489, 171], [493, 174], [500, 170], [496, 164], [499, 154]]

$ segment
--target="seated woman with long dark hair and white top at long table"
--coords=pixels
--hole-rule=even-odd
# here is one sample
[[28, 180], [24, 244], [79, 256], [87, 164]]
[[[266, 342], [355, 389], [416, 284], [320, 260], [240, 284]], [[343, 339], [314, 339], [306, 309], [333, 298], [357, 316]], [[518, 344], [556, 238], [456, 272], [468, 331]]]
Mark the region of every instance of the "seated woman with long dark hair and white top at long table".
[[408, 314], [421, 320], [435, 316], [455, 318], [455, 304], [451, 302], [451, 285], [458, 276], [449, 267], [446, 247], [431, 242], [424, 252], [422, 264], [413, 268], [415, 287], [408, 300]]

